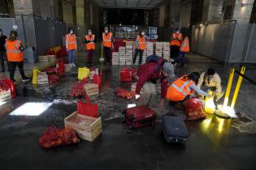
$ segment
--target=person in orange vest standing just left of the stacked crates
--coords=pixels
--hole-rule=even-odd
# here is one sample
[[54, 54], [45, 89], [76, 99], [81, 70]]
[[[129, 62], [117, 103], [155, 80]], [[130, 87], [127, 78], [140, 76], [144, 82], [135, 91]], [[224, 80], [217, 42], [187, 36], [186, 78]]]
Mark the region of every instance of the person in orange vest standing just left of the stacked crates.
[[111, 63], [111, 49], [113, 46], [113, 35], [112, 32], [109, 32], [109, 28], [105, 27], [104, 32], [102, 32], [102, 47], [104, 50], [104, 57], [106, 59], [106, 63]]

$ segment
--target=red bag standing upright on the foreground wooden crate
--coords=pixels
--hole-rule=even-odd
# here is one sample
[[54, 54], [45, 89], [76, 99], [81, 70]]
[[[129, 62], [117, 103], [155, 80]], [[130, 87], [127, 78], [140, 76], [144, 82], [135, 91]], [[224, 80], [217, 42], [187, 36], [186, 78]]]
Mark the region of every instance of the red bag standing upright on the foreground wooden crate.
[[86, 96], [86, 103], [84, 101], [77, 102], [77, 113], [88, 117], [98, 117], [98, 104], [91, 104], [89, 96]]

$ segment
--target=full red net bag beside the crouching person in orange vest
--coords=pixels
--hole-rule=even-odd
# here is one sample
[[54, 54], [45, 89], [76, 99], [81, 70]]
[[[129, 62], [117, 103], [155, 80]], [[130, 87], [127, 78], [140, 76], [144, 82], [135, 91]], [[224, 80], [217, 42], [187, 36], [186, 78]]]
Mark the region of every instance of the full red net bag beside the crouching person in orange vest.
[[205, 118], [206, 115], [203, 111], [203, 104], [197, 98], [191, 98], [185, 102], [186, 115], [189, 120], [197, 120]]

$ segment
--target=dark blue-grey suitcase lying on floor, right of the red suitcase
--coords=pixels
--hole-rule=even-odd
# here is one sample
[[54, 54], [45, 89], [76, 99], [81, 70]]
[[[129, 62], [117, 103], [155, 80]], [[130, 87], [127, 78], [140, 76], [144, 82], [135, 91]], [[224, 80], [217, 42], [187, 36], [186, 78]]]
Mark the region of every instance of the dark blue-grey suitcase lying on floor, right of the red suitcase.
[[188, 137], [188, 130], [182, 117], [163, 116], [163, 136], [167, 142], [184, 143]]

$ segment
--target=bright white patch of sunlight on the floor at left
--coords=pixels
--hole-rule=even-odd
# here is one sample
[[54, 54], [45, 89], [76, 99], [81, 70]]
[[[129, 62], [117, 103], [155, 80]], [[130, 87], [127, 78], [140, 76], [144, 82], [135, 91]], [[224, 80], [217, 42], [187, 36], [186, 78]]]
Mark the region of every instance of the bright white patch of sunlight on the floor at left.
[[52, 103], [37, 103], [28, 102], [19, 108], [16, 108], [10, 115], [11, 116], [39, 116], [45, 112]]

